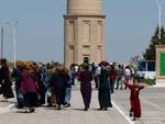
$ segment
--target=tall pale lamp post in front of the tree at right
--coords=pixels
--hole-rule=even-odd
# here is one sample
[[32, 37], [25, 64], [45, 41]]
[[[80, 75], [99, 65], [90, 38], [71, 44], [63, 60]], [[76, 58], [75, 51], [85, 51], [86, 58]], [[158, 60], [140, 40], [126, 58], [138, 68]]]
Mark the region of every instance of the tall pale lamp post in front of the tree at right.
[[161, 26], [162, 26], [162, 11], [161, 11], [161, 3], [158, 2], [158, 0], [155, 0], [157, 7], [158, 7], [158, 38], [161, 40]]

